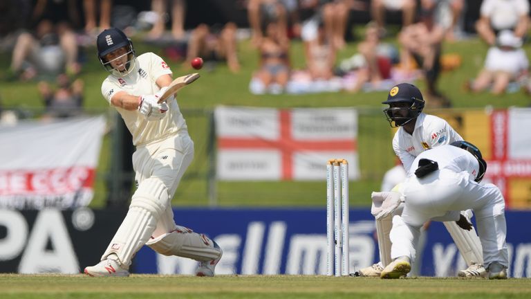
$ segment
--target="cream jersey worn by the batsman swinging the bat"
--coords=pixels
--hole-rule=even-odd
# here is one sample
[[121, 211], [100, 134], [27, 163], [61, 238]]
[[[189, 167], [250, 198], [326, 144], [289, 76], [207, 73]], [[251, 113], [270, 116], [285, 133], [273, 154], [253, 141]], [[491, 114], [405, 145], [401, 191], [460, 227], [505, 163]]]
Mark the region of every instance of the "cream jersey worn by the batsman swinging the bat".
[[[102, 94], [111, 103], [111, 98], [118, 91], [125, 91], [133, 96], [152, 95], [160, 90], [156, 84], [161, 75], [171, 75], [169, 66], [154, 53], [144, 53], [136, 57], [133, 71], [124, 77], [109, 75], [102, 84]], [[137, 110], [115, 107], [122, 115], [125, 125], [133, 136], [136, 146], [160, 141], [167, 136], [186, 131], [186, 122], [174, 97], [167, 100], [169, 107], [162, 120], [147, 121]]]

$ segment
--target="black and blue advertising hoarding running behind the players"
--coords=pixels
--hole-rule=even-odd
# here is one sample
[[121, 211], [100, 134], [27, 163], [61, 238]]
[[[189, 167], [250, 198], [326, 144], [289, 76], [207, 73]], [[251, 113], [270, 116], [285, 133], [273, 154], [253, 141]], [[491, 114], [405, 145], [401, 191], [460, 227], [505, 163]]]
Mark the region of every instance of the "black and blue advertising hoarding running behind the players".
[[[127, 210], [0, 210], [0, 273], [80, 273], [96, 264]], [[223, 248], [216, 274], [324, 275], [326, 208], [174, 208], [177, 224], [205, 233]], [[350, 212], [351, 273], [378, 261], [369, 208]], [[506, 212], [509, 274], [531, 278], [530, 211]], [[132, 273], [193, 275], [197, 262], [156, 254], [144, 246]], [[422, 241], [423, 276], [455, 276], [465, 262], [443, 224]]]

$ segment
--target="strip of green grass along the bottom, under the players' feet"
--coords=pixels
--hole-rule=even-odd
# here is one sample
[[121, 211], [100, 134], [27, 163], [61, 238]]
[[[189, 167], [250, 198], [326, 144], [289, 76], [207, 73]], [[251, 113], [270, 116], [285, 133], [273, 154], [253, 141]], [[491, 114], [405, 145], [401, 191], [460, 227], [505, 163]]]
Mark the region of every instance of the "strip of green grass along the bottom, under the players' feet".
[[0, 298], [531, 298], [531, 280], [329, 278], [314, 275], [0, 275]]

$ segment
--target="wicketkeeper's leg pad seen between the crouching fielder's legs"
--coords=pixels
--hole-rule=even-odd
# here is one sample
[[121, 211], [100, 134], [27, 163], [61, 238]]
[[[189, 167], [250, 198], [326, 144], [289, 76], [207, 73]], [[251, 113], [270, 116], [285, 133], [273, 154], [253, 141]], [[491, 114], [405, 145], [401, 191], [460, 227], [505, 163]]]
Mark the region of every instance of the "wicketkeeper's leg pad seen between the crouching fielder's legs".
[[445, 224], [451, 238], [454, 239], [467, 265], [470, 266], [473, 263], [483, 264], [483, 249], [474, 226], [472, 226], [471, 230], [464, 230], [455, 221], [443, 222], [443, 224]]

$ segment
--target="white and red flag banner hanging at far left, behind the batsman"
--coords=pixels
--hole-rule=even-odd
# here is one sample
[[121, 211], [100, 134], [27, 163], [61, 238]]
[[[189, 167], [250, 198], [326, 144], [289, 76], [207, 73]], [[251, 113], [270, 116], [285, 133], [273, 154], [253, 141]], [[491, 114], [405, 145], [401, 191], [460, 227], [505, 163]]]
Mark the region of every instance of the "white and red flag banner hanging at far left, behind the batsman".
[[87, 206], [104, 130], [103, 116], [0, 126], [0, 208]]

